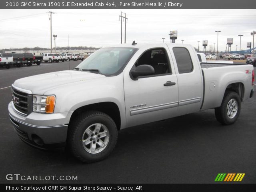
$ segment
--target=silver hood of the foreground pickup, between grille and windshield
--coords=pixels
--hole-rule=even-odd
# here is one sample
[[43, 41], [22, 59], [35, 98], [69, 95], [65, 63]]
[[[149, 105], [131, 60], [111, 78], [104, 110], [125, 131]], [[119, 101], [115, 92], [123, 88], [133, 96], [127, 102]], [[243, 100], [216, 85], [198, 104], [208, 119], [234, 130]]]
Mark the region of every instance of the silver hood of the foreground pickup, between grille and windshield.
[[106, 77], [91, 72], [66, 70], [21, 78], [14, 82], [14, 86], [31, 90], [32, 94], [44, 94], [46, 91], [60, 86], [67, 86], [76, 82], [88, 81], [96, 78]]

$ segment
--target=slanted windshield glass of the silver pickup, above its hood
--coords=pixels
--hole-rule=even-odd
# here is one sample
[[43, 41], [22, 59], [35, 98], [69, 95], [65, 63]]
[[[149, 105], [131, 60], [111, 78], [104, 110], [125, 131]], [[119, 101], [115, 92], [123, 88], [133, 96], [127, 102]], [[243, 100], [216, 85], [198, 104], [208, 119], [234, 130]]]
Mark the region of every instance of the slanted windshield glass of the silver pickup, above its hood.
[[101, 48], [80, 63], [76, 69], [112, 75], [121, 70], [138, 50], [137, 48]]

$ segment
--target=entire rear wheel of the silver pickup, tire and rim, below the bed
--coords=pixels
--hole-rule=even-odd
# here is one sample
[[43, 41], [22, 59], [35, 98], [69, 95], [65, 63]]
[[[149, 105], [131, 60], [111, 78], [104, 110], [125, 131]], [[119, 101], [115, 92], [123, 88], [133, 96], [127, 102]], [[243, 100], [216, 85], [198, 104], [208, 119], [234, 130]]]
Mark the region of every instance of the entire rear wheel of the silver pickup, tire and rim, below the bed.
[[226, 91], [222, 104], [215, 108], [215, 117], [223, 125], [230, 125], [236, 122], [241, 110], [239, 95], [233, 91]]

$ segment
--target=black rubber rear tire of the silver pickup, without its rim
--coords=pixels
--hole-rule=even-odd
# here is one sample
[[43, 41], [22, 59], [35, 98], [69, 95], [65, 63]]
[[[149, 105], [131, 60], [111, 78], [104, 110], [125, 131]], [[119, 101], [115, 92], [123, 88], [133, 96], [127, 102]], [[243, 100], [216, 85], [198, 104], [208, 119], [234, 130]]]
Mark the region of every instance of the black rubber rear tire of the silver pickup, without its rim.
[[[228, 117], [228, 104], [231, 100], [235, 100], [237, 103], [237, 111], [234, 117]], [[223, 125], [231, 125], [236, 122], [241, 111], [241, 100], [239, 95], [233, 91], [226, 91], [222, 100], [221, 106], [215, 108], [215, 117], [218, 122]]]

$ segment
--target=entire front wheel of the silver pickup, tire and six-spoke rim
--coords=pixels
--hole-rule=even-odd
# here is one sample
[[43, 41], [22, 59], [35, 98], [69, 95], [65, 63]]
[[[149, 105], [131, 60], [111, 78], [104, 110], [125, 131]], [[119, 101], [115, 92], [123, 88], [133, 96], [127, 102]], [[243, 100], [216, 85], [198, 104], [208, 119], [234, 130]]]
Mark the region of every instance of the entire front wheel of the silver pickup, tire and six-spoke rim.
[[116, 124], [110, 116], [88, 111], [70, 123], [68, 148], [82, 162], [96, 162], [112, 152], [117, 136]]

